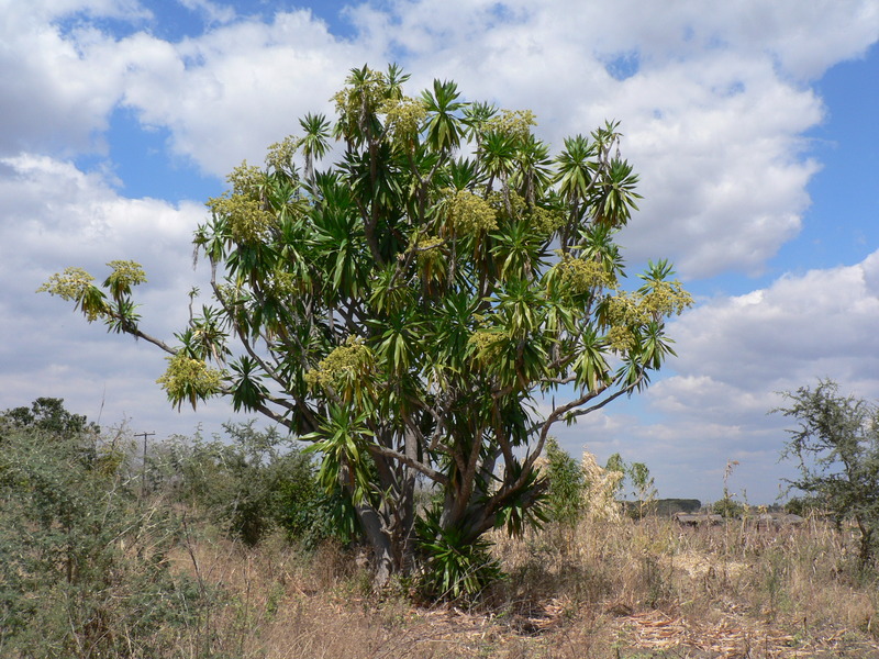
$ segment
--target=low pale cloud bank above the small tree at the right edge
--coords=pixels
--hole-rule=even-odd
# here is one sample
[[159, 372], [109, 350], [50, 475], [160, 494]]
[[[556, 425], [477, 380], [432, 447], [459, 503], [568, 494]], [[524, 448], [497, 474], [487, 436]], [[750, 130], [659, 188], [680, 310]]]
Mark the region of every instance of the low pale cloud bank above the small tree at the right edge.
[[791, 472], [778, 465], [789, 420], [769, 414], [783, 404], [778, 392], [831, 378], [846, 392], [879, 399], [877, 275], [879, 252], [700, 304], [669, 327], [675, 375], [630, 403], [643, 406], [641, 414], [625, 404], [605, 409], [609, 418], [577, 426], [567, 440], [657, 466], [668, 496], [719, 498], [726, 461], [737, 460], [736, 478], [750, 483], [750, 495], [771, 502]]

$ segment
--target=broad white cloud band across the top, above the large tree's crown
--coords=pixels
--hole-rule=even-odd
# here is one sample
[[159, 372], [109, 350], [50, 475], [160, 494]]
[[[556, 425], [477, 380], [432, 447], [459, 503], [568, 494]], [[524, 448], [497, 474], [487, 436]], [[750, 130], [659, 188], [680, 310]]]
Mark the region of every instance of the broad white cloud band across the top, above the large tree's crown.
[[[19, 82], [0, 101], [12, 129], [0, 148], [62, 135], [67, 148], [86, 148], [121, 103], [144, 126], [167, 129], [176, 155], [223, 176], [242, 159], [260, 163], [298, 116], [332, 112], [352, 66], [400, 60], [413, 92], [454, 78], [470, 98], [534, 109], [556, 147], [622, 120], [645, 197], [627, 255], [670, 257], [687, 278], [760, 273], [798, 234], [817, 169], [802, 135], [824, 114], [808, 82], [879, 35], [876, 5], [863, 0], [711, 12], [690, 2], [354, 3], [356, 38], [333, 35], [307, 9], [264, 22], [215, 2], [183, 4], [213, 23], [177, 43], [146, 31], [115, 38], [88, 23], [63, 33], [14, 12], [4, 36], [18, 55], [4, 64]], [[79, 8], [133, 25], [144, 13], [98, 0]], [[62, 10], [47, 12], [37, 15]]]

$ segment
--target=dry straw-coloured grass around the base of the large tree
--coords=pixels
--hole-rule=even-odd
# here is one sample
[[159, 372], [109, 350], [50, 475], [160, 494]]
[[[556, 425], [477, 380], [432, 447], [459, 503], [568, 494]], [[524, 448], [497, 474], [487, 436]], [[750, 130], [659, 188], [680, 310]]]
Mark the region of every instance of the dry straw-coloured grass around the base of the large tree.
[[332, 546], [201, 539], [175, 561], [224, 593], [202, 633], [215, 657], [879, 657], [876, 573], [820, 522], [621, 521], [496, 540], [510, 577], [468, 607], [416, 607], [402, 585], [377, 599]]

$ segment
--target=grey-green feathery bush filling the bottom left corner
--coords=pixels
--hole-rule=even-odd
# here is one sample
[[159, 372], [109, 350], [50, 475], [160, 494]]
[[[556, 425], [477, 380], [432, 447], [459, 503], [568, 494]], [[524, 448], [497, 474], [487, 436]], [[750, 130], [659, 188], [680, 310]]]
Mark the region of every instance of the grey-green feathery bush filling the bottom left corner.
[[179, 526], [130, 487], [129, 445], [21, 410], [0, 415], [0, 656], [179, 656], [205, 600], [169, 569]]

